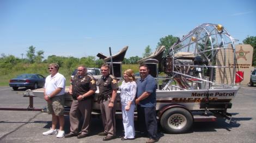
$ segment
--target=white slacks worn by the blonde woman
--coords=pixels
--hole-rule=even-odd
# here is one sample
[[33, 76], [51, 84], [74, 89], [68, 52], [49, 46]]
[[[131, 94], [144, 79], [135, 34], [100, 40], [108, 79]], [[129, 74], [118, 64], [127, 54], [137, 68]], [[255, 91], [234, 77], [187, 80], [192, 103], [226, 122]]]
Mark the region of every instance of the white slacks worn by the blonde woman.
[[129, 111], [125, 110], [125, 106], [126, 105], [122, 105], [124, 138], [135, 138], [135, 128], [134, 128], [135, 105], [132, 104]]

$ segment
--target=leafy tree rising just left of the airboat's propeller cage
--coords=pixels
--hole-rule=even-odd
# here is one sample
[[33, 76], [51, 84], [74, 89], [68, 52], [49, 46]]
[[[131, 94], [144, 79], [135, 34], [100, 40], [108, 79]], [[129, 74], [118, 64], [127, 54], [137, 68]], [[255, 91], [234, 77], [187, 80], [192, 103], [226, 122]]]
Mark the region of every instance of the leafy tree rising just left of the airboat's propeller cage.
[[165, 37], [160, 38], [160, 42], [157, 43], [157, 47], [159, 46], [165, 46], [166, 49], [163, 53], [164, 56], [168, 55], [169, 48], [173, 46], [175, 42], [178, 41], [178, 37], [174, 37], [173, 35], [168, 35]]

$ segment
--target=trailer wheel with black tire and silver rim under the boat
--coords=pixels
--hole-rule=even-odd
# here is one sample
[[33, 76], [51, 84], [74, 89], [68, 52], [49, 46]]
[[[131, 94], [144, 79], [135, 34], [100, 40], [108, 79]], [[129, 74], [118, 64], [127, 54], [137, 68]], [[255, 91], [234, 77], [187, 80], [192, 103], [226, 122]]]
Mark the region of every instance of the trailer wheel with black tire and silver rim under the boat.
[[167, 133], [185, 133], [191, 128], [193, 118], [186, 109], [171, 108], [163, 113], [160, 124]]

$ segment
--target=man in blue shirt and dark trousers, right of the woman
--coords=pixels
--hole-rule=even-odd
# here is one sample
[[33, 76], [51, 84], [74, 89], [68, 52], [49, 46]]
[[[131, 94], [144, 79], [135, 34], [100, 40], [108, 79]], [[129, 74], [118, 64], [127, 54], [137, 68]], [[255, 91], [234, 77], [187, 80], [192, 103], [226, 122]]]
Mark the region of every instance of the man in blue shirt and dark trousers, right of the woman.
[[139, 131], [148, 133], [149, 140], [146, 143], [158, 141], [156, 120], [156, 81], [149, 74], [147, 64], [139, 66], [141, 78], [137, 80], [137, 115]]

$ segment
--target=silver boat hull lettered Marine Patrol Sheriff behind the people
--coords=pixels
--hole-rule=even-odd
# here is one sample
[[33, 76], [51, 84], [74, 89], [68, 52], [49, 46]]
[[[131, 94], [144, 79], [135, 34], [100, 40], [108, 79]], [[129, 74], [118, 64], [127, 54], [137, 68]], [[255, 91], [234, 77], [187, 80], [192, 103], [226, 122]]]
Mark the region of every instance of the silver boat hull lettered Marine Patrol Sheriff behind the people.
[[[72, 96], [68, 93], [68, 88], [65, 92], [65, 106], [71, 106]], [[231, 106], [224, 107], [227, 103], [231, 103], [235, 98], [237, 88], [231, 89], [209, 89], [209, 90], [157, 90], [156, 91], [156, 110], [159, 111], [165, 106], [169, 105], [181, 105], [190, 111], [205, 110], [206, 103], [208, 103], [208, 109], [210, 110], [221, 110], [224, 108], [231, 108]], [[41, 99], [44, 99], [44, 89], [33, 90], [33, 94]], [[99, 90], [96, 90], [93, 100], [93, 110], [99, 111], [100, 104], [97, 103], [97, 96]], [[120, 105], [120, 91], [117, 96], [117, 110], [121, 110]], [[215, 106], [212, 106], [215, 105]]]

